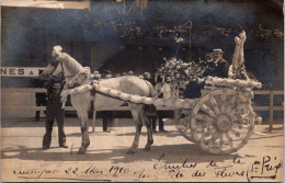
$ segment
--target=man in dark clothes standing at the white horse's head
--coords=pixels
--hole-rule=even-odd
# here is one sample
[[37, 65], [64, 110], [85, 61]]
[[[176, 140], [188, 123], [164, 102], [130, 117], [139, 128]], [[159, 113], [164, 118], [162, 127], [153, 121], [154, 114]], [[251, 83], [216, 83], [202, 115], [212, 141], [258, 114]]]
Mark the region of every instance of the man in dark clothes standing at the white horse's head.
[[54, 121], [58, 126], [58, 142], [59, 147], [68, 148], [66, 145], [66, 135], [64, 131], [65, 110], [61, 108], [62, 102], [60, 93], [64, 89], [61, 80], [52, 79], [46, 83], [47, 88], [47, 106], [46, 106], [46, 133], [43, 138], [43, 149], [48, 149], [52, 142], [52, 131]]

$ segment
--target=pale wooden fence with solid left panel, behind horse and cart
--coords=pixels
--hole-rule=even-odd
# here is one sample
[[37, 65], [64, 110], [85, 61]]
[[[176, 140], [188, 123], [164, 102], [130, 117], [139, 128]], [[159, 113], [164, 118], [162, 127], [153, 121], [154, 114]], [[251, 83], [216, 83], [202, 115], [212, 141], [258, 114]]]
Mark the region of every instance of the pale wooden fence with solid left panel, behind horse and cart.
[[[39, 88], [2, 88], [1, 91], [1, 114], [2, 117], [34, 117], [35, 111], [45, 111], [45, 106], [36, 106], [35, 93], [45, 93], [46, 89]], [[274, 106], [274, 96], [284, 95], [284, 91], [256, 90], [256, 94], [270, 95], [270, 106], [253, 106], [254, 111], [270, 112], [270, 130], [273, 128], [275, 111], [284, 111], [284, 106]], [[173, 110], [161, 107], [158, 110]], [[66, 111], [75, 111], [72, 106], [66, 106]], [[127, 106], [118, 106], [104, 111], [128, 111]]]

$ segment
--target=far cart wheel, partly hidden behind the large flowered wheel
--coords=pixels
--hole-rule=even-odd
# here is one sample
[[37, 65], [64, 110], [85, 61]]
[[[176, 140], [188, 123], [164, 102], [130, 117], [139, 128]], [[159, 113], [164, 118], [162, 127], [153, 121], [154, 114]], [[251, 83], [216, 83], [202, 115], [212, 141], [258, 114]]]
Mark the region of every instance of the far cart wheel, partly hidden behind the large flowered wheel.
[[190, 110], [175, 110], [175, 126], [183, 137], [192, 142], [195, 142], [190, 127]]

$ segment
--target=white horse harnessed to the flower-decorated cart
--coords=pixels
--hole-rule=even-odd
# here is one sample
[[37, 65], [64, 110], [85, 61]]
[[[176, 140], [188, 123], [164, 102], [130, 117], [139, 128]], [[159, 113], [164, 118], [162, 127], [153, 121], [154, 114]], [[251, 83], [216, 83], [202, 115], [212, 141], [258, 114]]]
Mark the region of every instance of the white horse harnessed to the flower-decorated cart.
[[[69, 81], [80, 72], [84, 72], [84, 68], [68, 54], [61, 53], [62, 48], [60, 46], [55, 46], [53, 50], [53, 60], [48, 64], [42, 73], [43, 78], [57, 77], [64, 73], [66, 79], [66, 85], [64, 90], [68, 89]], [[126, 76], [112, 79], [102, 79], [100, 85], [105, 88], [111, 88], [117, 91], [122, 91], [128, 94], [137, 94], [140, 96], [155, 96], [152, 85], [134, 76]], [[66, 101], [66, 95], [61, 93], [64, 102]], [[90, 108], [91, 101], [90, 91], [82, 93], [70, 94], [71, 103], [77, 110], [78, 116], [80, 118], [80, 127], [82, 134], [82, 142], [78, 153], [86, 153], [88, 146], [90, 145], [89, 134], [88, 134], [88, 111]], [[115, 108], [122, 105], [124, 101], [110, 98], [107, 95], [96, 93], [94, 100], [94, 110], [100, 111], [104, 108]], [[153, 144], [152, 129], [149, 118], [146, 115], [145, 104], [134, 104], [129, 103], [129, 110], [132, 111], [133, 119], [136, 125], [135, 139], [132, 147], [128, 149], [127, 153], [135, 153], [138, 147], [139, 136], [141, 131], [142, 123], [147, 127], [148, 140], [145, 150], [150, 150]]]

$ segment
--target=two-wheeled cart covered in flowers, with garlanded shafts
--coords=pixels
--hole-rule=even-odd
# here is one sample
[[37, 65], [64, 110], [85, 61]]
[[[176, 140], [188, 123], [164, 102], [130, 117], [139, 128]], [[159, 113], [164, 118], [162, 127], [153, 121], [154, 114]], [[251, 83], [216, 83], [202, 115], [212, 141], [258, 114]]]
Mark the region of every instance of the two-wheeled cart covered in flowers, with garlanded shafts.
[[[230, 66], [229, 78], [200, 78], [203, 68], [193, 64], [171, 59], [160, 68], [158, 75], [170, 75], [171, 83], [166, 83], [159, 90], [163, 98], [146, 98], [132, 95], [105, 88], [94, 81], [66, 90], [67, 94], [92, 90], [126, 102], [153, 104], [157, 107], [173, 107], [178, 130], [187, 140], [196, 142], [203, 150], [214, 155], [228, 155], [242, 148], [249, 140], [254, 128], [254, 112], [251, 105], [253, 88], [261, 83], [251, 80], [246, 73], [243, 64], [243, 43], [246, 33], [236, 37], [236, 50]], [[195, 68], [195, 69], [193, 69]], [[195, 72], [200, 70], [200, 72]], [[181, 96], [189, 80], [203, 82], [202, 96], [185, 99]], [[202, 80], [202, 81], [201, 81]], [[158, 93], [157, 93], [158, 94]]]

